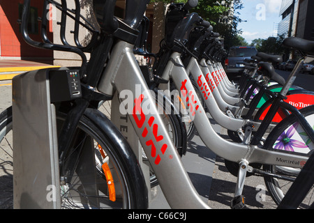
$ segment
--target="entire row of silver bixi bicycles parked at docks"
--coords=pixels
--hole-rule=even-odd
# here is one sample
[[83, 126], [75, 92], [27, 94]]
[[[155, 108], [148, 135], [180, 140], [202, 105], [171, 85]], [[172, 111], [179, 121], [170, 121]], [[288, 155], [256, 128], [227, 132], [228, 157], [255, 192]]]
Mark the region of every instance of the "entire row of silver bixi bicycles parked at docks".
[[[82, 95], [54, 102], [62, 208], [148, 208], [150, 188], [138, 162], [141, 158], [149, 164], [151, 187], [160, 185], [171, 208], [210, 208], [200, 199], [181, 162], [195, 132], [237, 176], [232, 208], [245, 206], [242, 191], [251, 175], [264, 178], [278, 208], [313, 208], [313, 92], [293, 85], [299, 68], [314, 61], [313, 41], [283, 41], [285, 47], [303, 55], [287, 79], [272, 66], [282, 61], [281, 56], [260, 52], [246, 59], [244, 75], [234, 83], [222, 66], [227, 52], [219, 33], [197, 13], [189, 13], [197, 1], [170, 4], [158, 54], [146, 48], [148, 0], [127, 0], [123, 20], [114, 16], [115, 0], [94, 0], [94, 23], [80, 15], [80, 1], [74, 1], [75, 9], [67, 8], [66, 0], [45, 0], [43, 8], [47, 13], [47, 4], [53, 3], [61, 10], [61, 29], [66, 17], [75, 20], [75, 45], [68, 44], [62, 31], [63, 44], [48, 40], [45, 16], [41, 19], [43, 42], [29, 37], [31, 0], [24, 0], [21, 24], [30, 45], [75, 52], [82, 58], [82, 66], [75, 68]], [[78, 41], [82, 29], [92, 33], [89, 45]], [[89, 60], [85, 52], [91, 55]], [[154, 63], [140, 66], [135, 54]], [[49, 71], [63, 73], [64, 69], [74, 68]], [[161, 86], [167, 86], [171, 94], [158, 91]], [[134, 97], [132, 104], [126, 106], [120, 97], [120, 107], [126, 108], [142, 157], [135, 156], [126, 137], [110, 121], [115, 114], [109, 111], [106, 115], [102, 109], [126, 90]], [[144, 105], [149, 105], [149, 112]], [[1, 180], [13, 178], [13, 114], [12, 107], [0, 114]], [[207, 114], [227, 129], [230, 140], [216, 133]], [[82, 146], [87, 142], [93, 149]], [[87, 154], [93, 164], [82, 172]], [[13, 187], [0, 193], [1, 208], [13, 208]]]

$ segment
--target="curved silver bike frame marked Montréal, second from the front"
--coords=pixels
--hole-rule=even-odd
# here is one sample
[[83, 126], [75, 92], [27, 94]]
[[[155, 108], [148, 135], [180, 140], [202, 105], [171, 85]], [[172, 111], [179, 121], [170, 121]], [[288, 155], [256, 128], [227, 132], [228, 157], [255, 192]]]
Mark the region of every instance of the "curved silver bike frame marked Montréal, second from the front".
[[[308, 159], [305, 155], [292, 155], [281, 151], [267, 151], [258, 148], [257, 146], [234, 143], [220, 137], [211, 127], [209, 118], [207, 118], [207, 115], [200, 104], [200, 100], [197, 98], [197, 94], [193, 89], [193, 85], [189, 80], [188, 73], [186, 72], [180, 57], [181, 54], [177, 52], [172, 53], [170, 61], [165, 67], [163, 79], [172, 78], [177, 89], [181, 89], [184, 84], [189, 94], [194, 95], [194, 107], [195, 109], [197, 105], [199, 107], [197, 107], [197, 111], [195, 111], [192, 118], [193, 124], [195, 125], [200, 138], [211, 151], [232, 162], [239, 163], [245, 160], [248, 163], [259, 162], [262, 164], [283, 165], [294, 168], [303, 167]], [[204, 76], [200, 77], [200, 81], [202, 84], [206, 83]], [[186, 100], [186, 98], [181, 99]]]

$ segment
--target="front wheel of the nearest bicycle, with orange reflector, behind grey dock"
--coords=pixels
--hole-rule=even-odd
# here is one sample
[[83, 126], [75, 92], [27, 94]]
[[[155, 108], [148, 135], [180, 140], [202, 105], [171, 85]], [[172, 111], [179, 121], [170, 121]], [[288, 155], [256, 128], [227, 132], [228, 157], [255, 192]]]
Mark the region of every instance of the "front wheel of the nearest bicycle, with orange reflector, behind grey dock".
[[[58, 113], [57, 123], [65, 117]], [[0, 208], [13, 208], [12, 132], [9, 108], [0, 115], [0, 157], [6, 164], [0, 172]], [[87, 109], [70, 145], [60, 167], [61, 208], [147, 208], [147, 187], [137, 159], [103, 114]]]

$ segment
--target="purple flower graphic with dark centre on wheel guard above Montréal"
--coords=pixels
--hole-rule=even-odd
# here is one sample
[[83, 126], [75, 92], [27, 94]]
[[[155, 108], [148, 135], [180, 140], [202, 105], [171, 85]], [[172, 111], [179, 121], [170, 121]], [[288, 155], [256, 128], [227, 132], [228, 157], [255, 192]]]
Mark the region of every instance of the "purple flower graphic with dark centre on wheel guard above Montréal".
[[291, 139], [295, 130], [297, 129], [299, 123], [294, 123], [288, 130], [287, 132], [283, 131], [281, 135], [278, 137], [277, 141], [278, 143], [275, 144], [276, 149], [281, 149], [285, 151], [292, 151], [294, 152], [293, 147], [297, 148], [307, 148], [306, 144], [301, 141], [297, 141], [296, 139]]

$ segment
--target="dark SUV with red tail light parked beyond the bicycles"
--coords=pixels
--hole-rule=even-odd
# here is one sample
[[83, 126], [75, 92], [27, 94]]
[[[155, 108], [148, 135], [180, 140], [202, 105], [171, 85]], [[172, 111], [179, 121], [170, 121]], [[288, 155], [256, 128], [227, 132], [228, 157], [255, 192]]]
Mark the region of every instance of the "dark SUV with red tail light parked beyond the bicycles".
[[251, 46], [231, 47], [225, 60], [225, 71], [230, 79], [241, 76], [244, 71], [244, 59], [256, 55], [257, 50]]

